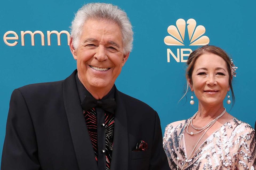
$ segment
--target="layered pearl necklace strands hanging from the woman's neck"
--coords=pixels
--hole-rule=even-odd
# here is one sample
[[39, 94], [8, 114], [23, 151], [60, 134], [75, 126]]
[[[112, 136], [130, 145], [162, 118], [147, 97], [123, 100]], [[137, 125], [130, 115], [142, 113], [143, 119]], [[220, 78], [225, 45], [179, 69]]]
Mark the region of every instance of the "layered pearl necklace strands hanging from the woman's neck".
[[[199, 143], [199, 141], [203, 138], [203, 136], [205, 135], [205, 133], [211, 128], [211, 126], [221, 117], [221, 116], [223, 116], [224, 114], [225, 114], [225, 112], [226, 112], [226, 108], [224, 108], [224, 111], [219, 115], [219, 116], [217, 116], [214, 120], [212, 120], [212, 121], [210, 121], [207, 125], [205, 125], [203, 128], [195, 128], [193, 125], [192, 125], [192, 120], [195, 118], [195, 116], [197, 116], [197, 113], [198, 113], [198, 111], [194, 114], [194, 116], [192, 116], [191, 118], [190, 118], [190, 120], [188, 121], [188, 123], [186, 124], [186, 126], [185, 126], [185, 129], [186, 129], [186, 131], [187, 131], [187, 133], [188, 134], [190, 134], [191, 136], [192, 135], [194, 135], [194, 134], [197, 134], [197, 133], [200, 133], [201, 131], [203, 131], [203, 130], [205, 130], [206, 129], [206, 131], [203, 133], [203, 135], [199, 138], [199, 140], [197, 141], [197, 144], [195, 144], [195, 146], [194, 146], [194, 148], [193, 148], [193, 150], [191, 151], [191, 153], [190, 153], [190, 155], [187, 157], [187, 159], [188, 158], [190, 158], [190, 156], [191, 156], [191, 154], [194, 152], [194, 150], [195, 150], [195, 147], [198, 145], [198, 143]], [[195, 129], [195, 130], [200, 130], [199, 132], [196, 132], [196, 133], [193, 133], [193, 132], [188, 132], [188, 127], [189, 127], [189, 125], [191, 124], [191, 126], [192, 126], [192, 128], [193, 129]], [[201, 130], [202, 129], [202, 130]], [[180, 135], [180, 137], [179, 137], [179, 147], [178, 147], [178, 154], [177, 154], [177, 158], [176, 158], [176, 160], [177, 160], [177, 170], [179, 169], [179, 148], [180, 148], [180, 145], [181, 145], [181, 138], [182, 138], [182, 135], [184, 135], [184, 133], [182, 133], [181, 135]], [[188, 160], [186, 160], [186, 162], [187, 162]], [[185, 164], [183, 165], [183, 167], [181, 168], [181, 170], [183, 169], [185, 167]]]

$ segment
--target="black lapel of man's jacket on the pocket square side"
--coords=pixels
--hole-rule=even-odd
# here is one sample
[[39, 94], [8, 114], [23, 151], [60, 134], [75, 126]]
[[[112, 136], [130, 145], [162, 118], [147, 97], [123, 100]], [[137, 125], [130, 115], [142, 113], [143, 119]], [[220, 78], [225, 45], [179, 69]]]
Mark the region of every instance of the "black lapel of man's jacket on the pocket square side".
[[114, 141], [111, 160], [111, 170], [128, 169], [128, 130], [126, 110], [120, 93], [115, 87], [115, 110]]

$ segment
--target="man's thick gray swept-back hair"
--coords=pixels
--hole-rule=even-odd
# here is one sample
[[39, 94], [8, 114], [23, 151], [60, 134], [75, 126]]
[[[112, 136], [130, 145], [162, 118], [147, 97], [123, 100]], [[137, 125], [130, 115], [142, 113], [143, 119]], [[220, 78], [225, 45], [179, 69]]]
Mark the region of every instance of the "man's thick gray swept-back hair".
[[117, 23], [122, 32], [123, 53], [131, 52], [133, 48], [133, 30], [125, 11], [118, 6], [107, 3], [87, 3], [75, 14], [71, 25], [73, 46], [77, 49], [82, 35], [82, 27], [87, 19], [107, 20]]

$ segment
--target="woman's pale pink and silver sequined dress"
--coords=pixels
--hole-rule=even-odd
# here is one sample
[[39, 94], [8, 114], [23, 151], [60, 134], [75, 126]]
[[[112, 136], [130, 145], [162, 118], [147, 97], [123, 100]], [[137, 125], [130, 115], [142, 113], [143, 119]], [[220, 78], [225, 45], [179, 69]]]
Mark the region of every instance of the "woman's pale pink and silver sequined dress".
[[177, 169], [178, 147], [179, 170], [255, 170], [255, 130], [249, 124], [236, 118], [231, 119], [211, 134], [193, 157], [187, 160], [183, 135], [187, 122], [173, 122], [165, 129], [163, 147], [172, 170]]

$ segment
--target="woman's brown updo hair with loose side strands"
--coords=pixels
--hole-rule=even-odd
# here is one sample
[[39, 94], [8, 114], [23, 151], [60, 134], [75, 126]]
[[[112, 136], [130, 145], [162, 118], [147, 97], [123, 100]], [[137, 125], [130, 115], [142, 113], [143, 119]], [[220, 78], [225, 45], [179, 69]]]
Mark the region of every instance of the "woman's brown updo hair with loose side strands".
[[188, 58], [187, 63], [186, 63], [187, 64], [187, 69], [186, 69], [187, 90], [186, 90], [184, 96], [186, 95], [186, 93], [188, 91], [188, 88], [189, 88], [189, 81], [188, 80], [190, 79], [191, 84], [193, 83], [192, 82], [192, 73], [193, 73], [194, 65], [195, 65], [195, 62], [196, 62], [197, 58], [199, 56], [203, 55], [203, 54], [206, 54], [206, 53], [216, 54], [216, 55], [220, 56], [221, 58], [223, 58], [223, 60], [225, 60], [225, 62], [227, 64], [228, 74], [229, 74], [229, 87], [230, 87], [231, 94], [232, 94], [232, 100], [233, 100], [232, 107], [233, 107], [233, 105], [235, 103], [235, 95], [234, 95], [234, 91], [233, 91], [233, 87], [232, 87], [233, 75], [231, 75], [230, 58], [223, 49], [221, 49], [217, 46], [213, 46], [213, 45], [202, 46], [202, 47], [194, 50], [192, 53], [190, 53], [189, 58]]

